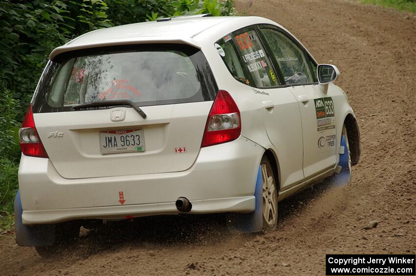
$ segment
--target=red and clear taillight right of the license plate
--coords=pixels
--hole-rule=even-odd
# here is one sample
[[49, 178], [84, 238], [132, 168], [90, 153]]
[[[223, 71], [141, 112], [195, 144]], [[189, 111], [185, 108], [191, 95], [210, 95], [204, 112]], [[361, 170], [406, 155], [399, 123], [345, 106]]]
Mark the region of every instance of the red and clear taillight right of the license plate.
[[201, 147], [230, 142], [240, 134], [240, 110], [227, 91], [219, 90], [209, 111]]

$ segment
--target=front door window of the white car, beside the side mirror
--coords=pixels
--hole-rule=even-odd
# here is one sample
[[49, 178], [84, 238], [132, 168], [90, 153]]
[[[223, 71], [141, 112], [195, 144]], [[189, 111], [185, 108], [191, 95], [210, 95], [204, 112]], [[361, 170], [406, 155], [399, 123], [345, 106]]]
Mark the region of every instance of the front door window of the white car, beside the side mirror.
[[261, 32], [272, 49], [286, 84], [314, 82], [315, 78], [309, 67], [312, 62], [295, 42], [275, 29], [261, 29]]

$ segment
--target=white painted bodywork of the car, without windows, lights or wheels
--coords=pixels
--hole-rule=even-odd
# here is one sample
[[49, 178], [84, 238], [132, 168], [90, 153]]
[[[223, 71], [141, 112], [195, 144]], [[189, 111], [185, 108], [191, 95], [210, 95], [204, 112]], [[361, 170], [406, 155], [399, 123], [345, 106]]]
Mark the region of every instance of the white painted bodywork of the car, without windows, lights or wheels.
[[[324, 85], [257, 89], [236, 81], [214, 43], [253, 24], [272, 24], [285, 30], [259, 17], [178, 18], [96, 30], [54, 49], [51, 59], [67, 51], [111, 45], [182, 43], [199, 48], [218, 88], [228, 91], [240, 110], [241, 136], [200, 148], [212, 101], [143, 106], [148, 115], [145, 120], [126, 107], [126, 119], [120, 122], [110, 120], [111, 108], [35, 113], [50, 159], [22, 155], [19, 186], [23, 223], [173, 214], [178, 213], [175, 200], [181, 196], [192, 202], [190, 213], [253, 212], [254, 185], [265, 150], [277, 158], [278, 200], [332, 174], [339, 160], [344, 119], [353, 115], [344, 92], [333, 84], [325, 94]], [[312, 107], [299, 101], [301, 95], [309, 98], [307, 105]], [[319, 151], [313, 106], [314, 99], [321, 97], [333, 99], [336, 142], [334, 147]], [[267, 101], [274, 104], [272, 110], [264, 107]], [[144, 152], [100, 154], [97, 131], [131, 126], [144, 129]], [[47, 138], [55, 131], [65, 134]], [[186, 147], [187, 153], [175, 154], [177, 147]], [[138, 154], [145, 158], [138, 159]], [[126, 200], [123, 206], [118, 201], [120, 191]]]

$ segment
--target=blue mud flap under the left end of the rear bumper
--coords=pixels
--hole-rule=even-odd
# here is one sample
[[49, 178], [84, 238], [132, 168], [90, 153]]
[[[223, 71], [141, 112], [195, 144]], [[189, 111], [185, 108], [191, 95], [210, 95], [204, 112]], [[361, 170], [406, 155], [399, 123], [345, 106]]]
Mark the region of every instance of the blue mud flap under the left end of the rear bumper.
[[17, 191], [15, 198], [15, 227], [16, 243], [20, 246], [44, 246], [51, 245], [55, 241], [55, 225], [44, 224], [27, 226], [22, 222], [22, 202], [20, 191]]

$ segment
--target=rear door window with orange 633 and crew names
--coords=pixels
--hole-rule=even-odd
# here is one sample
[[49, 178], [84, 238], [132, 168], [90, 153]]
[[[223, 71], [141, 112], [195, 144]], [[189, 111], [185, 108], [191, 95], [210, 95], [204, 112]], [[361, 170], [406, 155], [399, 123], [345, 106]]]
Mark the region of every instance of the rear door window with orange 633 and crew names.
[[256, 87], [278, 85], [272, 62], [257, 33], [254, 30], [236, 31], [233, 33], [233, 39], [237, 43], [238, 53], [254, 85]]

